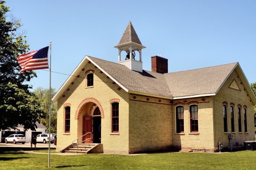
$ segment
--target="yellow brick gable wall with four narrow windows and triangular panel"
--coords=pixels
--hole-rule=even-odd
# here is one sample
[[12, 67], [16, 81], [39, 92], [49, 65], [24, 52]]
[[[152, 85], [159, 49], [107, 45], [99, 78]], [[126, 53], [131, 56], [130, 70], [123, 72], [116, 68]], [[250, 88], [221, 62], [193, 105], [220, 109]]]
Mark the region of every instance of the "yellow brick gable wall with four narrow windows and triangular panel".
[[[229, 88], [230, 84], [236, 80], [241, 91]], [[244, 82], [245, 83], [245, 82]], [[214, 146], [217, 149], [217, 143], [222, 142], [225, 147], [229, 147], [228, 134], [231, 133], [231, 113], [230, 113], [230, 103], [234, 103], [234, 122], [235, 122], [235, 133], [233, 134], [233, 144], [243, 145], [244, 141], [254, 140], [254, 113], [253, 113], [253, 103], [250, 102], [251, 98], [248, 96], [248, 92], [245, 90], [244, 84], [240, 79], [236, 70], [232, 72], [230, 77], [224, 83], [223, 87], [218, 91], [214, 98]], [[224, 121], [223, 121], [223, 102], [227, 102], [227, 114], [228, 114], [228, 133], [224, 133]], [[242, 133], [238, 131], [238, 104], [242, 105], [241, 117], [242, 117]], [[247, 132], [244, 132], [244, 111], [243, 106], [247, 106]], [[233, 148], [236, 146], [233, 145]]]

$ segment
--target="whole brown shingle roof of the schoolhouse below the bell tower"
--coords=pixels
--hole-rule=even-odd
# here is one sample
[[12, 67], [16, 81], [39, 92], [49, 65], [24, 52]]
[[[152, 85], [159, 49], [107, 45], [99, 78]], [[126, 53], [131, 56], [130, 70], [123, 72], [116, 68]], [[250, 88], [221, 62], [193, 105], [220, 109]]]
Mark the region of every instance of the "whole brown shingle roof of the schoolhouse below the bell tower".
[[140, 73], [122, 64], [88, 57], [128, 90], [165, 97], [215, 93], [237, 64], [160, 74]]

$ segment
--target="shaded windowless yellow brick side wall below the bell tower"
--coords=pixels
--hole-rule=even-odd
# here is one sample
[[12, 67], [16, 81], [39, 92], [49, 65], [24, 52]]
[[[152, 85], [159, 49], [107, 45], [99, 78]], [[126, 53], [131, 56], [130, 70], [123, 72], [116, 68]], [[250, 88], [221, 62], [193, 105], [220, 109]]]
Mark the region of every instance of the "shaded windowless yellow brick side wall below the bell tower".
[[170, 100], [134, 94], [129, 99], [129, 153], [170, 148]]

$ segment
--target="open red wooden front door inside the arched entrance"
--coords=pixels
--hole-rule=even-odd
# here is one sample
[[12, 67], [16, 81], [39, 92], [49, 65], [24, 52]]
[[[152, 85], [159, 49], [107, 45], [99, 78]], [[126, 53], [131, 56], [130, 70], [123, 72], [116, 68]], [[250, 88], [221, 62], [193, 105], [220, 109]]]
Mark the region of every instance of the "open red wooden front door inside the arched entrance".
[[[83, 118], [83, 135], [88, 132], [93, 132], [93, 117], [84, 116]], [[91, 138], [91, 133], [83, 136], [83, 140]], [[91, 140], [86, 140], [84, 143], [91, 143]]]

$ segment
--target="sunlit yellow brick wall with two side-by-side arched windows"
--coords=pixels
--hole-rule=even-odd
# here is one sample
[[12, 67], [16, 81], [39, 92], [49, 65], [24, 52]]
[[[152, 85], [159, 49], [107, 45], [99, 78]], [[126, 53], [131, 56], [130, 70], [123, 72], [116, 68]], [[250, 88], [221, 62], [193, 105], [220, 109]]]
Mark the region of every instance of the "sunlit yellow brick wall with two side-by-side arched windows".
[[[213, 150], [212, 97], [173, 100], [172, 135], [175, 148], [191, 150]], [[198, 106], [198, 133], [190, 132], [189, 106]], [[184, 107], [184, 133], [176, 133], [176, 107]]]

